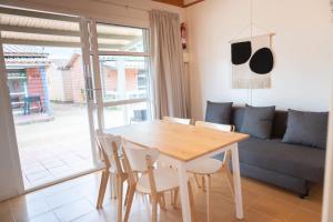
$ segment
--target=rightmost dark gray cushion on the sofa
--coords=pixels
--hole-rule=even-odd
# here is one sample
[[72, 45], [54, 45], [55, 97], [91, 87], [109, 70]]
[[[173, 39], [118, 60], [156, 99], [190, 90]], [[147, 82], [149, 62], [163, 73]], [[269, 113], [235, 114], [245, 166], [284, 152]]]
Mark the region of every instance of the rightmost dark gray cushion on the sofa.
[[283, 142], [325, 149], [327, 121], [327, 112], [289, 110]]

